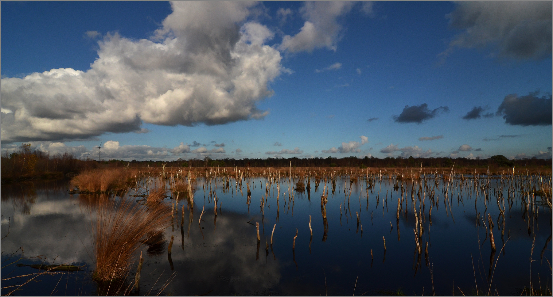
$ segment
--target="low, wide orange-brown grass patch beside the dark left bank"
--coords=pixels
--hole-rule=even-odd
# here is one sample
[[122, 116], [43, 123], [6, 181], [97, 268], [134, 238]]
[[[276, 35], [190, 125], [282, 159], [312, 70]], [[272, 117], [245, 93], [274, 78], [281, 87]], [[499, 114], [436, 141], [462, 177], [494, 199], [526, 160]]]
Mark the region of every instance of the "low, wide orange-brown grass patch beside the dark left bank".
[[71, 187], [80, 192], [108, 192], [123, 190], [134, 182], [133, 172], [126, 169], [93, 169], [71, 179]]

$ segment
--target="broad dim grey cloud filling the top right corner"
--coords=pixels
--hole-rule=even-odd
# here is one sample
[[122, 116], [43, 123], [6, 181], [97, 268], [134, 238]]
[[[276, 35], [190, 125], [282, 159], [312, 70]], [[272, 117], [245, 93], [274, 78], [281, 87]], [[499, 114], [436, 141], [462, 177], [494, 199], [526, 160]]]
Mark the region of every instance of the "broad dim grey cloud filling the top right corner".
[[442, 57], [455, 47], [497, 46], [514, 59], [551, 58], [551, 1], [461, 1], [446, 15], [450, 26], [463, 30]]

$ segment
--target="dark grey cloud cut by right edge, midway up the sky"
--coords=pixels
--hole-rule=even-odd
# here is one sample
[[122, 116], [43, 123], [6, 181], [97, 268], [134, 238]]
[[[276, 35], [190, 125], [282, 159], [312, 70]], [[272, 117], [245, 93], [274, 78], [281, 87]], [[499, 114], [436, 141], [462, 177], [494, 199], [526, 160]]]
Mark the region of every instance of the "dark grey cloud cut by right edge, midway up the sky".
[[530, 92], [526, 96], [517, 94], [505, 96], [496, 115], [503, 115], [505, 124], [521, 126], [551, 125], [551, 95], [538, 97], [539, 92]]

